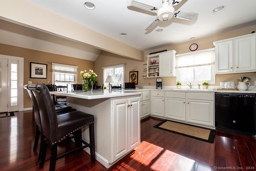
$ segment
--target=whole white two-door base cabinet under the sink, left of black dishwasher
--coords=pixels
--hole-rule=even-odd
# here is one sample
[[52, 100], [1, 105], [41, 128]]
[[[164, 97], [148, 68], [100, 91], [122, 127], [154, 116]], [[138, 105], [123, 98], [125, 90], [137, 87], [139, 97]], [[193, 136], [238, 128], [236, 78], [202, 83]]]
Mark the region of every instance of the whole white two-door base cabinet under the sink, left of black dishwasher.
[[214, 127], [214, 93], [165, 92], [165, 117]]

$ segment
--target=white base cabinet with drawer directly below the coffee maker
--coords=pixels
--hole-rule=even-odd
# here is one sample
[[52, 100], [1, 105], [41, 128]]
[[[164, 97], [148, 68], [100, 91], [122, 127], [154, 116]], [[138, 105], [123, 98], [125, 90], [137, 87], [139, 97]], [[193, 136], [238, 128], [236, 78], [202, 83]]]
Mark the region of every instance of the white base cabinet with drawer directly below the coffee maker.
[[151, 115], [164, 117], [164, 91], [151, 91], [150, 104]]

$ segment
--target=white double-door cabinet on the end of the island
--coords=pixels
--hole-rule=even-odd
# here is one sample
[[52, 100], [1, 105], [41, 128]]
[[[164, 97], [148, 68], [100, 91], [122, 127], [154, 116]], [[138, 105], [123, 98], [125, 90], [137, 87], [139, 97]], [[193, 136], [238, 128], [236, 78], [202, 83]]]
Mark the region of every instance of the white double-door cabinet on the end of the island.
[[112, 100], [112, 154], [116, 161], [140, 144], [140, 97]]

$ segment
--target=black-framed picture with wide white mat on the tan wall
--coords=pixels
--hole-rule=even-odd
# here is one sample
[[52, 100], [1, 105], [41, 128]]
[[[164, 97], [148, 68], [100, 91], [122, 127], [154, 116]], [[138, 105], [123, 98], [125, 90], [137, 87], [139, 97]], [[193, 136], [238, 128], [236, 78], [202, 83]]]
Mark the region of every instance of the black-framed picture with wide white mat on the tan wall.
[[47, 64], [30, 62], [30, 78], [47, 78]]

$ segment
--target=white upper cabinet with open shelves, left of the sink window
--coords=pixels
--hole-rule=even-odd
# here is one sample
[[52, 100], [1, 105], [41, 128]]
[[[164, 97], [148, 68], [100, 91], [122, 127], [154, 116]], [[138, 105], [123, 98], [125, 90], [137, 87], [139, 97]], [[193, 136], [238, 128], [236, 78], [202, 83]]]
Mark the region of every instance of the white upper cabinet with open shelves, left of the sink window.
[[175, 57], [175, 50], [148, 55], [147, 77], [175, 76]]

